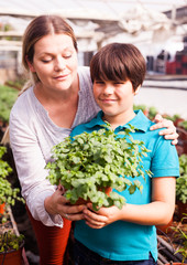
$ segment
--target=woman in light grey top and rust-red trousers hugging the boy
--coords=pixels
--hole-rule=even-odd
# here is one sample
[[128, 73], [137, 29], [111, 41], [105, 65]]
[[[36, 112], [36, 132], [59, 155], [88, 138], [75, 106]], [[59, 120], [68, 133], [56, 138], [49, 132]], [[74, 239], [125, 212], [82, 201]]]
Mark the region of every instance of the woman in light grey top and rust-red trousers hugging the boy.
[[[11, 147], [38, 243], [40, 264], [58, 265], [63, 263], [70, 221], [84, 218], [84, 205], [66, 205], [61, 188], [46, 180], [45, 165], [51, 148], [72, 128], [95, 117], [99, 107], [89, 68], [77, 67], [74, 31], [61, 17], [41, 15], [28, 25], [22, 61], [33, 85], [11, 110]], [[177, 138], [172, 123], [161, 121], [153, 129], [161, 127], [168, 127], [163, 130], [167, 139]]]

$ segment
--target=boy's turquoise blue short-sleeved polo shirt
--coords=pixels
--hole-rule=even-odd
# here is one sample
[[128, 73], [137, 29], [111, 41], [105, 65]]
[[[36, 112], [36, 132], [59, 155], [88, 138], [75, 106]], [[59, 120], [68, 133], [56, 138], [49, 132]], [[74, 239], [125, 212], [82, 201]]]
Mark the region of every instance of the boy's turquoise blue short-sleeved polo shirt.
[[[129, 123], [139, 130], [132, 132], [132, 137], [143, 140], [145, 147], [151, 150], [147, 157], [143, 157], [144, 170], [153, 172], [152, 178], [158, 177], [178, 177], [179, 163], [175, 146], [170, 140], [165, 140], [158, 135], [158, 130], [150, 130], [153, 121], [147, 119], [141, 110], [135, 112], [136, 116]], [[105, 124], [102, 112], [88, 124], [82, 124], [74, 128], [72, 136], [79, 135], [84, 131], [91, 132], [100, 129]], [[129, 125], [119, 126], [116, 132], [122, 131]], [[129, 191], [119, 192], [124, 195], [127, 203], [147, 204], [151, 202], [151, 178], [145, 174], [139, 180], [143, 184], [142, 193], [136, 190], [133, 194]], [[117, 191], [118, 192], [118, 191]], [[113, 261], [139, 261], [148, 259], [150, 252], [154, 259], [157, 259], [157, 240], [156, 227], [154, 225], [140, 225], [124, 221], [117, 221], [102, 229], [95, 230], [89, 227], [85, 221], [77, 221], [75, 224], [75, 239], [82, 243], [100, 256]]]

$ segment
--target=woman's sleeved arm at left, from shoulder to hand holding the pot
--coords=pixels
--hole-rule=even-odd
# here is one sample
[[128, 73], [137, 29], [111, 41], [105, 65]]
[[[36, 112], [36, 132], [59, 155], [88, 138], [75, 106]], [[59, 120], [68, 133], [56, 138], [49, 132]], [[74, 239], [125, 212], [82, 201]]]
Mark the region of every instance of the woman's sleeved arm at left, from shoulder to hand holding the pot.
[[31, 125], [24, 123], [23, 118], [11, 115], [10, 140], [22, 195], [32, 216], [47, 226], [61, 227], [62, 216], [66, 216], [66, 213], [77, 213], [72, 220], [82, 219], [79, 212], [84, 206], [68, 206], [62, 191], [56, 190], [46, 179], [46, 162]]

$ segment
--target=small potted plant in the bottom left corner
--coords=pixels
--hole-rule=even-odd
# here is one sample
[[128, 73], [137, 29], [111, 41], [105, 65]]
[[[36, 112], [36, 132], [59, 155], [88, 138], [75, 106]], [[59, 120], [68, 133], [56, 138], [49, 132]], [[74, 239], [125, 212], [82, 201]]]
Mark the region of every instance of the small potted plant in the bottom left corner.
[[24, 236], [16, 235], [12, 230], [0, 232], [0, 264], [21, 265]]

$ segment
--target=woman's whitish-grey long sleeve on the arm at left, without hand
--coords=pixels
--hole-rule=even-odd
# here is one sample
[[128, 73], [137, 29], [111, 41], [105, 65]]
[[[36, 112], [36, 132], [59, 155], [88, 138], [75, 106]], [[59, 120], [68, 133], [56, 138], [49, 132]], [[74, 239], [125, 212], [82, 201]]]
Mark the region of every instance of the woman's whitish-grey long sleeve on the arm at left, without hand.
[[22, 188], [32, 216], [47, 226], [63, 227], [61, 215], [50, 215], [44, 208], [45, 198], [55, 191], [46, 179], [45, 159], [40, 148], [36, 134], [32, 130], [30, 119], [23, 121], [19, 115], [10, 115], [10, 142]]

